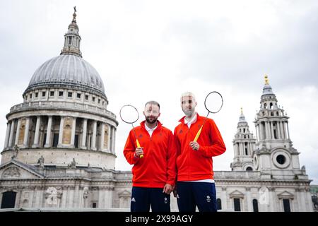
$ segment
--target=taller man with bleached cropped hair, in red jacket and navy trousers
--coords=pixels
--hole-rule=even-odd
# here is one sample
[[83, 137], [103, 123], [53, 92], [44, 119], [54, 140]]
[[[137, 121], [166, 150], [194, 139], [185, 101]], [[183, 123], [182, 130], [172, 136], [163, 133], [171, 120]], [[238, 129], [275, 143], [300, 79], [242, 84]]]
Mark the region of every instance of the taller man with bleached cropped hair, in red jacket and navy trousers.
[[[216, 212], [216, 186], [213, 180], [213, 156], [225, 152], [223, 138], [213, 119], [206, 119], [196, 113], [197, 102], [193, 93], [183, 93], [181, 107], [185, 116], [175, 128], [177, 146], [177, 197], [180, 212]], [[204, 124], [201, 134], [194, 141], [196, 133]]]

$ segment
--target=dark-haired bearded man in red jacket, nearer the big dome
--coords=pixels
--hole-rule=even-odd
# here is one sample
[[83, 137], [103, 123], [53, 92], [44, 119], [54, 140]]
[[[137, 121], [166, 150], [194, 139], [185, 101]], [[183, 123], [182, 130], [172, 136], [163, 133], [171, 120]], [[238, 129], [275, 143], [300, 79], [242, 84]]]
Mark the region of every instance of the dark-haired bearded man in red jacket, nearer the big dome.
[[124, 147], [127, 162], [134, 165], [131, 212], [148, 212], [150, 206], [153, 212], [170, 212], [170, 193], [176, 177], [173, 134], [158, 121], [158, 102], [147, 102], [143, 115], [146, 120], [135, 128], [137, 137], [131, 130]]

